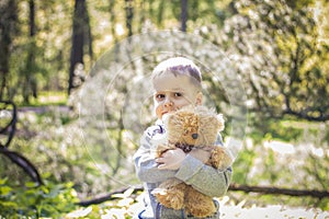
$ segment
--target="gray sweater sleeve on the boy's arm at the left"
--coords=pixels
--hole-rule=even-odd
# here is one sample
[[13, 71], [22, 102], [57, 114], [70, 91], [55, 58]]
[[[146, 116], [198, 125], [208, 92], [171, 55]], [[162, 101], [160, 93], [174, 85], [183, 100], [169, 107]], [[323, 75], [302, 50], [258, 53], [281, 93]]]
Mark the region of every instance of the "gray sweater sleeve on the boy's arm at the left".
[[140, 139], [140, 147], [134, 154], [134, 162], [137, 176], [145, 183], [163, 182], [169, 177], [174, 177], [175, 171], [159, 170], [155, 160], [155, 149], [151, 147], [151, 137], [146, 131]]

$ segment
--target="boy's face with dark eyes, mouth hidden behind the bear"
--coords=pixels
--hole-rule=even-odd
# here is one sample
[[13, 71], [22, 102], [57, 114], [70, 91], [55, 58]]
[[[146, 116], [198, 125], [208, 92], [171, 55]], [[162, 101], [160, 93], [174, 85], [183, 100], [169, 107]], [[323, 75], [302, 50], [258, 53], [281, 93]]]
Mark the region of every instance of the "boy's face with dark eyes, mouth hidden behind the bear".
[[183, 106], [202, 103], [202, 93], [189, 76], [163, 73], [155, 78], [152, 83], [155, 110], [159, 119]]

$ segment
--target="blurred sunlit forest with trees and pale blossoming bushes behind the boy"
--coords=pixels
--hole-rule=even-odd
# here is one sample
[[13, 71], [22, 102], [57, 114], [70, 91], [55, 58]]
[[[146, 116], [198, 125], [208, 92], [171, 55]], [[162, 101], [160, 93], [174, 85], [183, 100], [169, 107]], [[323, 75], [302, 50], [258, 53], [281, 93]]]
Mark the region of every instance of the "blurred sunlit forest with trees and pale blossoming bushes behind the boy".
[[[232, 185], [328, 192], [328, 13], [325, 0], [1, 0], [0, 100], [18, 105], [8, 148], [27, 158], [44, 183], [35, 186], [2, 153], [1, 216], [78, 209], [75, 216], [99, 218], [116, 209], [131, 217], [134, 189], [109, 198], [121, 203], [76, 204], [140, 184], [132, 155], [152, 122], [151, 100], [133, 88], [145, 91], [146, 76], [174, 50], [200, 61], [209, 104], [226, 116], [224, 139], [242, 136]], [[137, 44], [149, 53], [128, 47]], [[222, 61], [207, 45], [223, 51]], [[214, 73], [227, 61], [239, 92], [224, 84], [230, 76]], [[241, 131], [232, 105], [245, 115]], [[1, 105], [1, 127], [12, 119], [8, 106]], [[0, 137], [5, 145], [8, 132]], [[225, 198], [329, 210], [328, 197], [228, 192]]]

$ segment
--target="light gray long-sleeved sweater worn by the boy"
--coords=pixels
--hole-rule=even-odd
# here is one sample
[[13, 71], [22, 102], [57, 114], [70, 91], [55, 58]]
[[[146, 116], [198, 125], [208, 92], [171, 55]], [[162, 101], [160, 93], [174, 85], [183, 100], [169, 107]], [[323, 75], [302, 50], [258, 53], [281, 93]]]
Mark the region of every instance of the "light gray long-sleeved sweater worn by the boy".
[[[209, 165], [205, 165], [192, 155], [186, 155], [179, 170], [159, 170], [155, 161], [156, 143], [152, 139], [166, 132], [161, 124], [149, 127], [140, 139], [140, 147], [134, 154], [135, 168], [138, 178], [144, 182], [145, 192], [145, 209], [139, 212], [136, 218], [193, 218], [186, 216], [183, 210], [169, 209], [157, 203], [152, 189], [158, 187], [163, 181], [177, 177], [188, 185], [192, 185], [198, 192], [211, 197], [223, 196], [229, 186], [231, 177], [231, 168], [219, 171]], [[218, 135], [218, 145], [223, 145], [222, 137]], [[215, 201], [215, 200], [214, 200]], [[219, 208], [217, 201], [215, 205]], [[214, 217], [219, 218], [219, 210]]]

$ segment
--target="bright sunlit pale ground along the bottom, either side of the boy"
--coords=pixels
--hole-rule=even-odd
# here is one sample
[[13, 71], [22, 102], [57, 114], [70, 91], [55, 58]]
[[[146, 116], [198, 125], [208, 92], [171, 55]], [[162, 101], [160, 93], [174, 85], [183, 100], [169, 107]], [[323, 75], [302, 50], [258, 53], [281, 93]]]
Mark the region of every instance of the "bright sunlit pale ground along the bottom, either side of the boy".
[[[101, 211], [102, 219], [126, 219], [143, 209], [141, 196], [137, 197], [137, 203], [133, 198], [123, 197], [116, 204], [109, 204]], [[133, 204], [134, 203], [134, 204]], [[265, 207], [246, 207], [245, 201], [235, 205], [227, 196], [220, 200], [220, 219], [329, 219], [329, 211], [316, 208], [287, 207], [280, 205], [269, 205]], [[89, 218], [94, 211], [94, 207], [81, 208], [69, 214], [66, 218]]]

